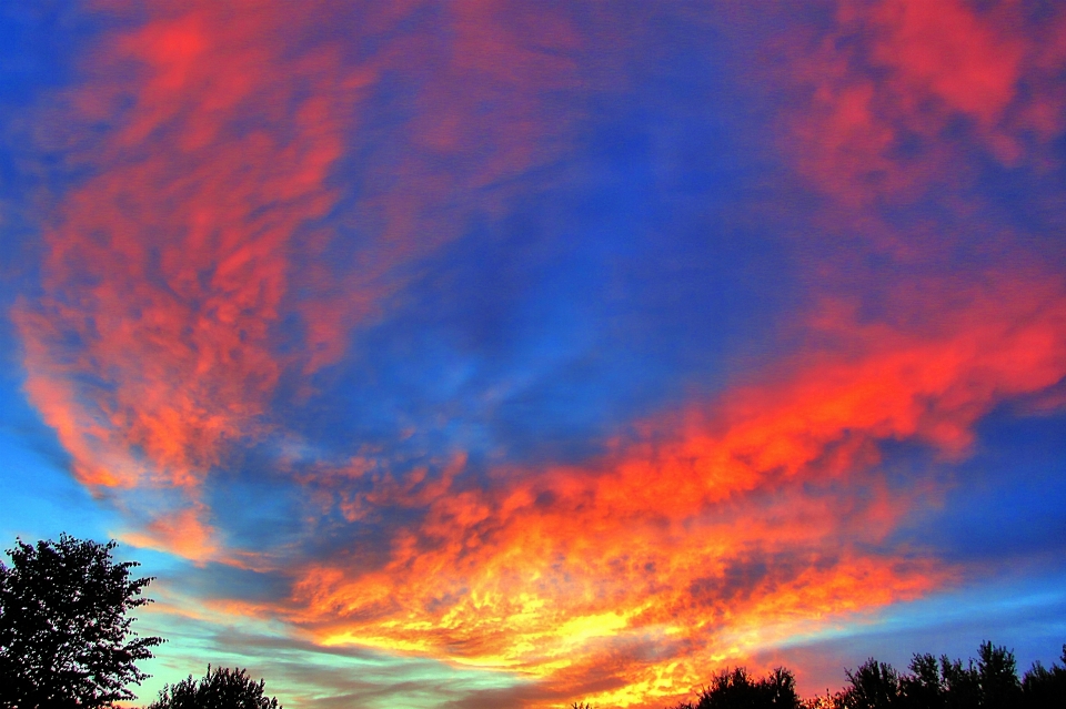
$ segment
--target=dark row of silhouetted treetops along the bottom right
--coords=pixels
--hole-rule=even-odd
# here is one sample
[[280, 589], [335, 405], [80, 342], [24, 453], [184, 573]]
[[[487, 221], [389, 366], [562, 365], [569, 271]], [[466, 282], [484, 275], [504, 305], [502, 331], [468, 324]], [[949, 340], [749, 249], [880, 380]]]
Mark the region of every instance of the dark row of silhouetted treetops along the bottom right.
[[871, 658], [845, 671], [839, 691], [806, 700], [785, 668], [753, 677], [738, 667], [714, 675], [695, 701], [668, 709], [1066, 709], [1066, 645], [1060, 659], [1049, 668], [1037, 661], [1018, 677], [1014, 654], [992, 642], [965, 664], [915, 655], [906, 672]]

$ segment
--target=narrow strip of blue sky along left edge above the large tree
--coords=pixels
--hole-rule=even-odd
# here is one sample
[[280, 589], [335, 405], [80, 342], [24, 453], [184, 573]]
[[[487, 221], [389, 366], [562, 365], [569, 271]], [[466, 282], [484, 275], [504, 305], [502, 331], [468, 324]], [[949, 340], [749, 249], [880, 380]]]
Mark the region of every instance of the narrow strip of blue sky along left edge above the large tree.
[[22, 389], [22, 351], [9, 317], [37, 287], [40, 235], [32, 212], [38, 176], [18, 144], [19, 121], [43, 92], [69, 80], [77, 49], [93, 28], [69, 2], [0, 6], [0, 539], [105, 537], [117, 518], [70, 475], [54, 433]]

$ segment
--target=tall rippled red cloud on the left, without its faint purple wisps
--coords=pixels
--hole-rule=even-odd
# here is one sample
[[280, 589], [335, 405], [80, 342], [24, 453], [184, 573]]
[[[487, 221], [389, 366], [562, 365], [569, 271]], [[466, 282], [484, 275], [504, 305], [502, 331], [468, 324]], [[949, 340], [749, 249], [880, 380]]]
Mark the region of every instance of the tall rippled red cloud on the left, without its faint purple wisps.
[[[92, 422], [62, 434], [91, 485], [194, 486], [225, 440], [254, 433], [283, 364], [271, 328], [291, 240], [335, 199], [325, 179], [348, 118], [298, 91], [331, 95], [344, 77], [313, 52], [281, 71], [260, 41], [283, 21], [266, 6], [212, 8], [115, 38], [72, 97], [115, 124], [77, 155], [94, 174], [58, 205], [46, 295], [19, 322], [46, 419]], [[249, 114], [258, 125], [238, 130]], [[101, 466], [123, 455], [127, 474]]]

